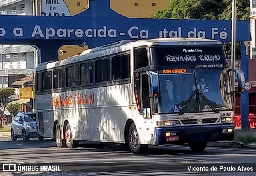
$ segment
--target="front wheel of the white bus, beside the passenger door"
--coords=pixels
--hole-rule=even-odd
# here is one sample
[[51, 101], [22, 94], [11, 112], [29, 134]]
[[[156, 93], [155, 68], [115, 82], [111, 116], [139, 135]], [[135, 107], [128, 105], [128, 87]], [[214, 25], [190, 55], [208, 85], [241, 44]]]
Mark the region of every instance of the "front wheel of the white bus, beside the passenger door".
[[134, 123], [129, 129], [129, 146], [133, 154], [145, 154], [148, 151], [148, 145], [139, 144], [138, 131]]

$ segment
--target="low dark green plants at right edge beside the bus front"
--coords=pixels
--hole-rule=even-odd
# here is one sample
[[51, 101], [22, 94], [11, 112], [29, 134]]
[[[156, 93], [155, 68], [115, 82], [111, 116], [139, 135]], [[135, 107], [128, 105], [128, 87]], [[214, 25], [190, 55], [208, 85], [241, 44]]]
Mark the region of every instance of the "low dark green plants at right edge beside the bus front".
[[256, 142], [256, 132], [255, 131], [235, 131], [234, 136], [235, 141], [243, 143], [252, 143]]

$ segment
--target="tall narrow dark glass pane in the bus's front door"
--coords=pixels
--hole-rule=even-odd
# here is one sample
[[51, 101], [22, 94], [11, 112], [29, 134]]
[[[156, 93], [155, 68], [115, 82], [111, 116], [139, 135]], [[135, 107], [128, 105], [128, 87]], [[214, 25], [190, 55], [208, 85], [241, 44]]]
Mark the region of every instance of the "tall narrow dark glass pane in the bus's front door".
[[149, 82], [148, 75], [141, 75], [141, 87], [142, 87], [142, 107], [150, 108], [150, 98], [149, 98]]

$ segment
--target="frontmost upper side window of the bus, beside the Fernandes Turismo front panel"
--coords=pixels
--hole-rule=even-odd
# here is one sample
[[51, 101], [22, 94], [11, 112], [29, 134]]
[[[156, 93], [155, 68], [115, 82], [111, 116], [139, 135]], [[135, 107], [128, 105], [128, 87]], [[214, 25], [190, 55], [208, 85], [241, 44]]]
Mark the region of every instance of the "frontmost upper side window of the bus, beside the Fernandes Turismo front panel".
[[148, 66], [148, 52], [146, 48], [134, 50], [134, 70]]

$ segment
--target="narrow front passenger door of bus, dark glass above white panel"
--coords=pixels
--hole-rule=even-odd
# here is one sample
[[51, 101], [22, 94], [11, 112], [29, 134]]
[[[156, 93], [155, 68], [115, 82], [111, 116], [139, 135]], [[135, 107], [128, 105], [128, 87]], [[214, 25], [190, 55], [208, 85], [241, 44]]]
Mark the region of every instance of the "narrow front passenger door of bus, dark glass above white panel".
[[[152, 105], [150, 101], [150, 77], [145, 73], [141, 75], [141, 99], [143, 129], [140, 139], [144, 138], [145, 144], [155, 144], [154, 118], [152, 116]], [[142, 141], [142, 140], [140, 140]]]

